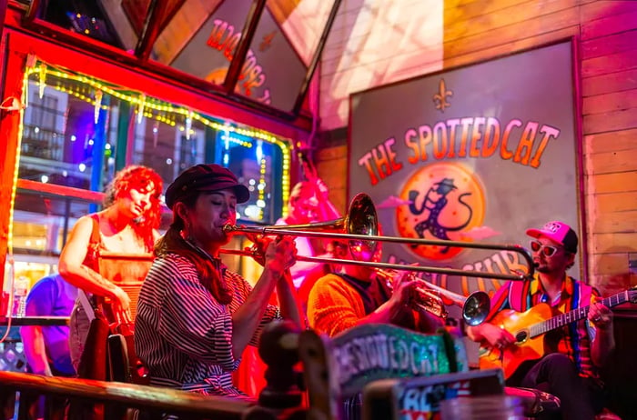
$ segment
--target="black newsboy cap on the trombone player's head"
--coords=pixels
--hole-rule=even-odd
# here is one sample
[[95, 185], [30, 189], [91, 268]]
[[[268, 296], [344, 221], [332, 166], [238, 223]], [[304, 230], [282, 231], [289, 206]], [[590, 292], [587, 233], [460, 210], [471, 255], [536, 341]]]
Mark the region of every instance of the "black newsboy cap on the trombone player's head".
[[239, 184], [237, 176], [229, 169], [217, 164], [191, 166], [168, 185], [166, 205], [172, 210], [175, 203], [193, 191], [218, 191], [227, 188], [235, 190], [238, 203], [245, 203], [250, 198], [248, 187]]

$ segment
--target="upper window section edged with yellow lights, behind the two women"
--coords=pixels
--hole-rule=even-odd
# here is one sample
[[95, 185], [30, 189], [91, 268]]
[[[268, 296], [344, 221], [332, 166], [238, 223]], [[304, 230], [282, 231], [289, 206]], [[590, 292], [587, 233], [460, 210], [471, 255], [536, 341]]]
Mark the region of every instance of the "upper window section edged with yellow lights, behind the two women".
[[125, 163], [165, 188], [191, 165], [229, 167], [248, 185], [239, 218], [273, 224], [288, 186], [288, 146], [247, 126], [39, 65], [30, 70], [18, 177], [103, 192]]

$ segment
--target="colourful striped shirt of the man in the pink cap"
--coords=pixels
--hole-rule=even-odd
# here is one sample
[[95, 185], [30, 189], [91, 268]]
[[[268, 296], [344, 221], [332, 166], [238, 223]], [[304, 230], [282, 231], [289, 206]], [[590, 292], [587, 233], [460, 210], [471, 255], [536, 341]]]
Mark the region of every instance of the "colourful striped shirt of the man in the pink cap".
[[[487, 321], [493, 315], [505, 309], [525, 312], [541, 303], [551, 305], [556, 313], [564, 314], [578, 307], [596, 302], [599, 292], [567, 275], [561, 286], [561, 295], [555, 302], [541, 285], [536, 274], [530, 282], [507, 282], [491, 297], [491, 309]], [[595, 338], [595, 329], [583, 318], [575, 323], [561, 327], [557, 352], [568, 355], [575, 363], [580, 376], [597, 377], [598, 373], [591, 361], [591, 342]]]

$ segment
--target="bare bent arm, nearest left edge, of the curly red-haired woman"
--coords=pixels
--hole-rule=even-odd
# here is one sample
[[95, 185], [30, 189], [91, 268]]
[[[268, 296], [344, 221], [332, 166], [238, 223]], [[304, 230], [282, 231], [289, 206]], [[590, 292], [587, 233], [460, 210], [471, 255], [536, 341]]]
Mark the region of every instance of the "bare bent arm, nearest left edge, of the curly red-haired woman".
[[130, 298], [126, 292], [84, 265], [92, 232], [91, 217], [80, 217], [73, 226], [68, 242], [60, 254], [59, 273], [68, 283], [87, 293], [113, 299], [119, 303], [122, 311], [126, 312], [130, 306]]

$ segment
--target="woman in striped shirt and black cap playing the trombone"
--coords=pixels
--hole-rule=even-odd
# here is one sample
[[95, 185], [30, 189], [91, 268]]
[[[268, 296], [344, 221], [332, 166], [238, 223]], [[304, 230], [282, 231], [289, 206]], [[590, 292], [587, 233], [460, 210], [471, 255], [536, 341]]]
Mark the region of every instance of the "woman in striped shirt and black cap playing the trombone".
[[[237, 205], [248, 198], [248, 188], [220, 165], [190, 167], [168, 186], [173, 223], [157, 242], [136, 317], [136, 353], [151, 385], [248, 398], [231, 379], [245, 347], [281, 316], [300, 325], [288, 272], [293, 238], [265, 247], [254, 288], [218, 258], [229, 240], [223, 227], [236, 223]], [[268, 305], [275, 288], [280, 310]]]

